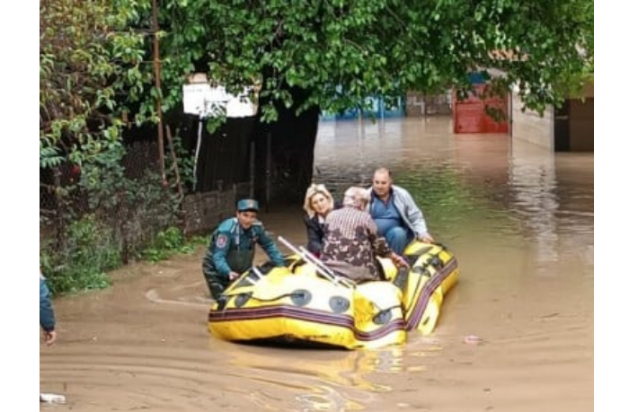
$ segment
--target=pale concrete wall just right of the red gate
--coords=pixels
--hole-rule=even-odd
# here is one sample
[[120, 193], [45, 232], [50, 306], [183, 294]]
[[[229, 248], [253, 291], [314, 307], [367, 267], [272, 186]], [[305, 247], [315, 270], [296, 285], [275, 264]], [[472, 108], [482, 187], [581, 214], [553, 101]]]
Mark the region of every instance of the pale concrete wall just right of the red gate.
[[511, 138], [554, 151], [554, 110], [549, 107], [540, 117], [535, 111], [522, 113], [523, 103], [518, 94], [511, 93]]

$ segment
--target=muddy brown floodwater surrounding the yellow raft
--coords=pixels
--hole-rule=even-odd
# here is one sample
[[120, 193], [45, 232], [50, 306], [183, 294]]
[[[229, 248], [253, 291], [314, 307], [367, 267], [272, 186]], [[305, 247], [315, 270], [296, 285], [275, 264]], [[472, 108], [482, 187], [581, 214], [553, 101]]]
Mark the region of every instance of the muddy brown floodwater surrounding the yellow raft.
[[[329, 122], [315, 148], [314, 180], [337, 195], [389, 167], [455, 254], [460, 281], [432, 335], [357, 351], [218, 340], [201, 248], [56, 300], [58, 342], [40, 346], [40, 390], [67, 403], [41, 408], [593, 410], [594, 154], [451, 130], [448, 118]], [[306, 241], [299, 206], [261, 218]]]

